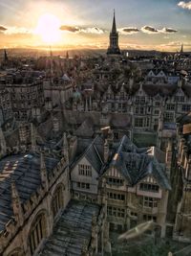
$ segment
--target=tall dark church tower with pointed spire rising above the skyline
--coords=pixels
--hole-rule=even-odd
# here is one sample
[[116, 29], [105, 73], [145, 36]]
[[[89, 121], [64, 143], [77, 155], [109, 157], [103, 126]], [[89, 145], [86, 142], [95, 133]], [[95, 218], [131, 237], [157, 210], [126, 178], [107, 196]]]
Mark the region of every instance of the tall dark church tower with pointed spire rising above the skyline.
[[118, 33], [117, 33], [115, 11], [114, 11], [112, 31], [110, 33], [110, 46], [108, 47], [107, 55], [120, 55], [120, 49], [118, 47]]

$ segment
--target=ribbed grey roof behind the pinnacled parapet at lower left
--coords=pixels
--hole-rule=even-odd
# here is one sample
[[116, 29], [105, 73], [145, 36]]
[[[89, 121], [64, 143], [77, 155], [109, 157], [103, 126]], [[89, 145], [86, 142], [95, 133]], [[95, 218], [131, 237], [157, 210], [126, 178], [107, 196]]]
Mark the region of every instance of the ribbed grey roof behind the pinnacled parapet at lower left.
[[[48, 174], [59, 159], [44, 157]], [[15, 181], [21, 202], [27, 201], [41, 184], [40, 155], [18, 154], [0, 161], [0, 231], [13, 217], [11, 206], [11, 181]]]

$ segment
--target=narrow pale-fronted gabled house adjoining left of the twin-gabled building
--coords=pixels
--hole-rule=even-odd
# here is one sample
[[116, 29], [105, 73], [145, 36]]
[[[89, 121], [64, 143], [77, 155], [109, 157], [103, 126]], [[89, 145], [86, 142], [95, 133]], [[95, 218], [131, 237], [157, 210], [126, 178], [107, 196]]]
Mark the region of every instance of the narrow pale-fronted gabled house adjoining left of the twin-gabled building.
[[[82, 142], [84, 144], [84, 142]], [[77, 148], [81, 148], [78, 140]], [[79, 151], [79, 150], [77, 150]], [[93, 142], [81, 151], [71, 169], [71, 180], [74, 198], [98, 200], [98, 183], [103, 169], [103, 140], [96, 136]]]

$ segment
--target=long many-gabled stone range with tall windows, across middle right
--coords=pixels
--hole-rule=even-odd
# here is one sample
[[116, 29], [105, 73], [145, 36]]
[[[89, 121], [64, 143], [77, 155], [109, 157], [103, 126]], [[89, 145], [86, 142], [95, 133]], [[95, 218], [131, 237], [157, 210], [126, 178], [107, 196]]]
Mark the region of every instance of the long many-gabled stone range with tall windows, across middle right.
[[[153, 136], [150, 145], [165, 149], [168, 139], [176, 135], [176, 118], [191, 107], [191, 84], [186, 81], [169, 83], [163, 73], [155, 83], [152, 81], [127, 82], [95, 86], [93, 93], [82, 92], [81, 98], [73, 102], [78, 112], [101, 112], [104, 119], [112, 113], [123, 113], [132, 117], [132, 136], [138, 140], [141, 131]], [[156, 79], [156, 78], [155, 78]]]

